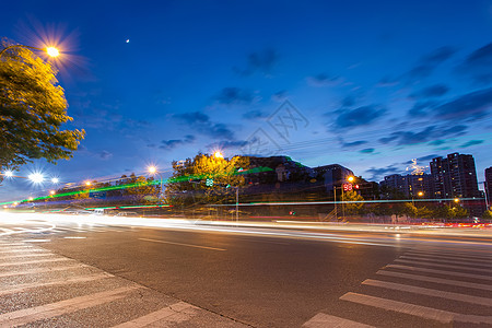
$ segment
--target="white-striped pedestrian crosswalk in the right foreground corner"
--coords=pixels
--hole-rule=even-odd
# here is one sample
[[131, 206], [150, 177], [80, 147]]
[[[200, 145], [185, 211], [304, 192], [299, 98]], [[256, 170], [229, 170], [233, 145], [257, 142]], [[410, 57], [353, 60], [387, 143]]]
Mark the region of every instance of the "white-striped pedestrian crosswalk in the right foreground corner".
[[402, 326], [408, 318], [426, 326], [492, 327], [492, 253], [414, 247], [341, 295], [338, 304], [350, 315], [319, 313], [303, 327], [395, 327], [394, 317]]

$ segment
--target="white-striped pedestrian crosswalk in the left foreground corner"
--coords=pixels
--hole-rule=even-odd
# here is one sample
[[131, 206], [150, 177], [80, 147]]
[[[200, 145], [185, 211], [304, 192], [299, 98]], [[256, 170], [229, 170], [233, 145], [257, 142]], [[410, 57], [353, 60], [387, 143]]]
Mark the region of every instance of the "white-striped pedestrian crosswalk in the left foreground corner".
[[0, 241], [0, 328], [245, 327], [38, 245]]

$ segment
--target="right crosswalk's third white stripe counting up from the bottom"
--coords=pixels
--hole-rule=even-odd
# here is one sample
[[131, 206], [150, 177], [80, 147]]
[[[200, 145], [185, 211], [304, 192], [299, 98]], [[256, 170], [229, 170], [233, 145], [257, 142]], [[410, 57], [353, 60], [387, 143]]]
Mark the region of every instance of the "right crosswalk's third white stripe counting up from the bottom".
[[492, 306], [492, 298], [471, 296], [471, 295], [445, 292], [445, 291], [440, 291], [440, 290], [425, 289], [425, 288], [420, 288], [420, 286], [414, 286], [414, 285], [407, 285], [407, 284], [386, 282], [386, 281], [373, 280], [373, 279], [366, 279], [362, 282], [362, 284], [388, 289], [388, 290], [395, 290], [395, 291], [400, 291], [400, 292], [403, 291], [403, 292], [420, 294], [420, 295], [425, 295], [425, 296], [434, 296], [434, 297], [459, 301], [459, 302], [465, 302], [465, 303]]

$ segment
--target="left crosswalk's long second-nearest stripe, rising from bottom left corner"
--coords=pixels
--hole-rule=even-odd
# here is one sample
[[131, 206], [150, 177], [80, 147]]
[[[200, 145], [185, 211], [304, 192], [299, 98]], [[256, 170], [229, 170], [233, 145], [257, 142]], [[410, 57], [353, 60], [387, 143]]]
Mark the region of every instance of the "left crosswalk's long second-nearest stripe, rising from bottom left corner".
[[26, 325], [33, 321], [48, 319], [63, 314], [72, 313], [79, 309], [93, 307], [99, 304], [109, 303], [126, 296], [126, 293], [137, 290], [141, 286], [132, 285], [119, 288], [113, 291], [79, 296], [51, 304], [36, 307], [19, 309], [0, 315], [0, 327], [14, 327]]

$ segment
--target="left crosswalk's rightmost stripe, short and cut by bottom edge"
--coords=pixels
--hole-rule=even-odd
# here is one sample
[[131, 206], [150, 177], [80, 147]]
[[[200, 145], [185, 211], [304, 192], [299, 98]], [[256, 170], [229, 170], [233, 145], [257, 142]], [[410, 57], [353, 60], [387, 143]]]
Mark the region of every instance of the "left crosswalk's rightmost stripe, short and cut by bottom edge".
[[[155, 325], [155, 327], [167, 327], [167, 325], [165, 324], [177, 324], [179, 321], [185, 321], [195, 314], [192, 312], [184, 313], [184, 311], [186, 309], [197, 311], [198, 307], [195, 307], [186, 302], [178, 302], [137, 319], [114, 326], [113, 328], [143, 328], [153, 324], [157, 324], [157, 321], [159, 325]], [[175, 316], [177, 314], [179, 314], [179, 317], [176, 318], [177, 320], [175, 318], [169, 318], [171, 316]], [[169, 320], [166, 320], [167, 318], [169, 318]]]

